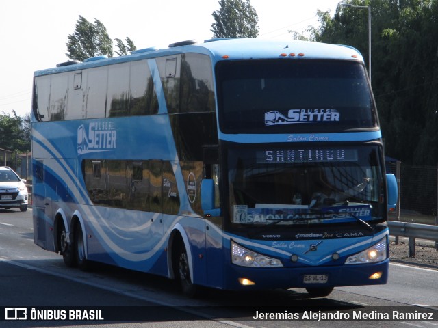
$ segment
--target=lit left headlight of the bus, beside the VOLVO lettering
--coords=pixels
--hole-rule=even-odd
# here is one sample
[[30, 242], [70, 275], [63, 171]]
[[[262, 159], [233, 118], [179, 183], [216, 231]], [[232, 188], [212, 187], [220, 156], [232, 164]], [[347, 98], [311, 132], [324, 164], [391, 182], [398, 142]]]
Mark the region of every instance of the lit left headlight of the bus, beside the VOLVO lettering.
[[276, 258], [250, 251], [231, 241], [231, 262], [241, 267], [283, 267]]

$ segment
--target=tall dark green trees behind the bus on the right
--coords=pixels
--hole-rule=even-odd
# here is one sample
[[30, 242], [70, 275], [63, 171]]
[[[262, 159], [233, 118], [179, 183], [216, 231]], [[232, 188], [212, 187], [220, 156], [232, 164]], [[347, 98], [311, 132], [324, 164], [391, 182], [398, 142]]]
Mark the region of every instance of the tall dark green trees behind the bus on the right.
[[[438, 1], [352, 0], [371, 6], [372, 87], [388, 156], [404, 163], [438, 162]], [[368, 10], [318, 11], [318, 42], [348, 44], [368, 65]]]

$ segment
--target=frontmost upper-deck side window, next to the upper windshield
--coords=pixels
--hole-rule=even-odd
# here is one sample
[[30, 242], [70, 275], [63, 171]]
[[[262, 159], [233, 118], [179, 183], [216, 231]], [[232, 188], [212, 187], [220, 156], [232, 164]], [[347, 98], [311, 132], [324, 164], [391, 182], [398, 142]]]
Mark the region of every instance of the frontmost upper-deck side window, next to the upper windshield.
[[213, 71], [207, 55], [181, 56], [180, 112], [214, 111]]

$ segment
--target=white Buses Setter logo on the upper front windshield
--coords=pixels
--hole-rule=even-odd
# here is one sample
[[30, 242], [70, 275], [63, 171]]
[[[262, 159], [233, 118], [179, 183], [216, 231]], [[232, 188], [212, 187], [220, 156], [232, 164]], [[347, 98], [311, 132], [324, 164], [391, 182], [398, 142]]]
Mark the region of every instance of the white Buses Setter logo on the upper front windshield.
[[289, 109], [287, 116], [279, 111], [265, 113], [265, 125], [338, 122], [337, 109]]

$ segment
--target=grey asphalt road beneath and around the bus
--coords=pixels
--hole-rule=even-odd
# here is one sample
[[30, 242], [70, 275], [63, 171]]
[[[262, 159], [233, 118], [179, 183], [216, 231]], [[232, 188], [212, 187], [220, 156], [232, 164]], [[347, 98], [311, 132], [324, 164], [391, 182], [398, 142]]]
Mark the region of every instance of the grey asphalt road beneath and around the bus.
[[[24, 307], [29, 312], [31, 308], [61, 309], [68, 314], [80, 305], [100, 309], [106, 318], [102, 323], [80, 325], [75, 321], [8, 320], [8, 327], [83, 327], [86, 324], [99, 328], [400, 327], [402, 324], [403, 327], [438, 327], [438, 271], [435, 270], [391, 264], [387, 285], [335, 288], [329, 297], [320, 299], [311, 299], [300, 289], [255, 293], [210, 290], [201, 299], [188, 299], [163, 277], [104, 265], [90, 272], [64, 267], [62, 256], [34, 245], [31, 213], [31, 210], [27, 213], [0, 210], [0, 307]], [[398, 321], [370, 320], [370, 317], [348, 323], [335, 317], [318, 321], [318, 316], [328, 314], [348, 315], [351, 319], [368, 313], [385, 318], [385, 314], [392, 315], [393, 311], [401, 314], [430, 312], [435, 320], [400, 320], [399, 316]], [[265, 316], [279, 314], [289, 317], [264, 320]], [[0, 318], [1, 315], [3, 313]], [[259, 320], [253, 320], [255, 316]], [[307, 320], [309, 316], [315, 317]], [[136, 322], [107, 321], [126, 321], [127, 318]], [[0, 327], [1, 324], [0, 321]]]

